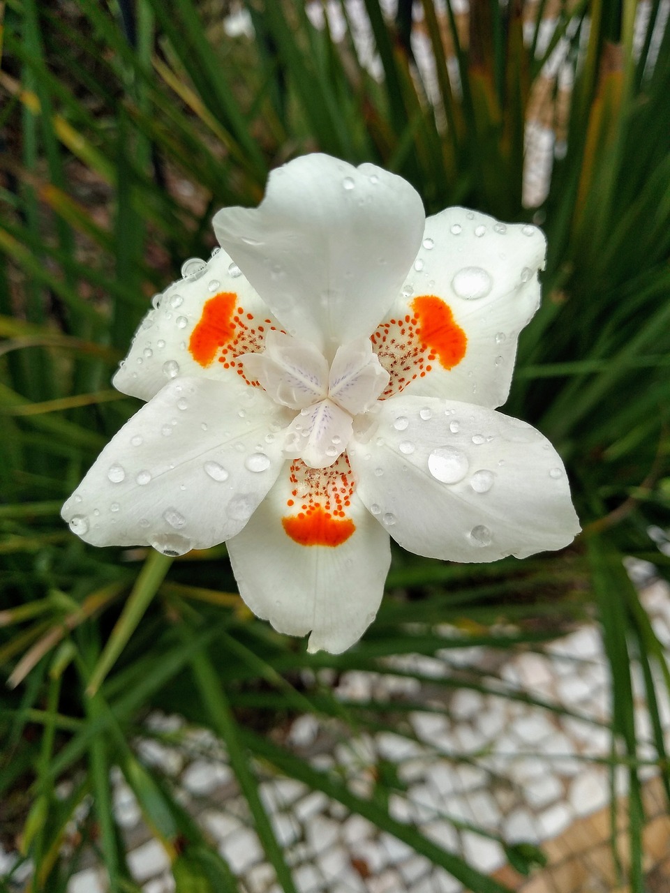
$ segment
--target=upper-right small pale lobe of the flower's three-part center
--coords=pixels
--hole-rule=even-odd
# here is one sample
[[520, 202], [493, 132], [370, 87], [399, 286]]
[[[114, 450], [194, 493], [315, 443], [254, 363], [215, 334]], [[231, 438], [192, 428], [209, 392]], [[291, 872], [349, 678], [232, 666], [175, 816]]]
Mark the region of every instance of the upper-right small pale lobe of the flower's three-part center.
[[331, 365], [329, 396], [348, 413], [366, 413], [389, 384], [370, 338], [357, 338], [339, 347]]

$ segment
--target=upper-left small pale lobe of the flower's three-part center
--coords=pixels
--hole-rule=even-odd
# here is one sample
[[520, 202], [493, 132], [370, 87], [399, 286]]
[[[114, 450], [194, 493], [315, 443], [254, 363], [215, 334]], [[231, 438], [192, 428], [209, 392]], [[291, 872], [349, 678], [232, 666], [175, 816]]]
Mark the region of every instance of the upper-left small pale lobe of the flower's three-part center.
[[303, 409], [328, 393], [328, 364], [308, 341], [271, 331], [262, 354], [239, 357], [247, 378], [260, 381], [272, 399]]

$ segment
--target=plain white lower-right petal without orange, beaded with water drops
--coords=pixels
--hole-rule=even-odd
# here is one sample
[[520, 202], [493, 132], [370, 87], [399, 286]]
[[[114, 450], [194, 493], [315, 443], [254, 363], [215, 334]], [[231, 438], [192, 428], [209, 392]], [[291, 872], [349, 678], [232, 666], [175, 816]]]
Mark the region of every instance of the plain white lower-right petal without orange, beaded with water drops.
[[572, 542], [579, 522], [549, 440], [482, 406], [401, 395], [348, 447], [357, 492], [398, 543], [459, 562]]

